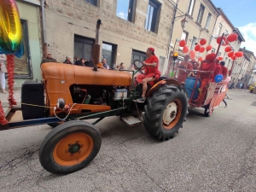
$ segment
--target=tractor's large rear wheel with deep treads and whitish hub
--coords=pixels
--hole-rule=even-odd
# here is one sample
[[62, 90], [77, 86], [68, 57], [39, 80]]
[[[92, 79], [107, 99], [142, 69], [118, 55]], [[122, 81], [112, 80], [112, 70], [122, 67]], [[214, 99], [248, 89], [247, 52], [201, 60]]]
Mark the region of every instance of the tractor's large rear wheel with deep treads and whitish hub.
[[143, 124], [152, 137], [165, 141], [182, 127], [188, 108], [188, 98], [182, 89], [164, 85], [148, 97]]

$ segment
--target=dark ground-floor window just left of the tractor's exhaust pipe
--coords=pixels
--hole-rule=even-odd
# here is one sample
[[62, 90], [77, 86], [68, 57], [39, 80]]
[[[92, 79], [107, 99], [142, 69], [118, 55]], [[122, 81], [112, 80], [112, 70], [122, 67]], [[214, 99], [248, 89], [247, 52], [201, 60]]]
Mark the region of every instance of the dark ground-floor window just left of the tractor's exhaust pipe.
[[85, 60], [92, 59], [92, 45], [94, 44], [94, 39], [85, 38], [83, 36], [74, 36], [74, 56], [79, 59], [84, 58]]

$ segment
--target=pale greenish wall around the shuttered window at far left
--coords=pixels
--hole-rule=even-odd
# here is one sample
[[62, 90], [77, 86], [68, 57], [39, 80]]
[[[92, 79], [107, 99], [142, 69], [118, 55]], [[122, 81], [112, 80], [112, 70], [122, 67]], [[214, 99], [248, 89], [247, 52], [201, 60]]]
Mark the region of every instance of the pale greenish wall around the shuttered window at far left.
[[[28, 41], [31, 56], [32, 66], [32, 79], [42, 79], [40, 62], [42, 60], [41, 55], [41, 43], [40, 43], [40, 21], [39, 21], [39, 7], [36, 4], [27, 3], [26, 1], [16, 1], [20, 19], [27, 21]], [[15, 79], [15, 87], [20, 87], [27, 79]]]

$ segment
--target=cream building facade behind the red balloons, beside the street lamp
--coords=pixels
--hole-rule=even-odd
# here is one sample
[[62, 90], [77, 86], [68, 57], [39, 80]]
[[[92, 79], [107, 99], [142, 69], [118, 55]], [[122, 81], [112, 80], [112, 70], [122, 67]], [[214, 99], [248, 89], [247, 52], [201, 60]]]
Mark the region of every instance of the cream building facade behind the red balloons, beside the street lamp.
[[[195, 43], [198, 43], [200, 38], [206, 38], [207, 44], [209, 44], [219, 13], [210, 0], [183, 0], [178, 3], [177, 9], [177, 17], [182, 15], [186, 16], [188, 24], [182, 28], [180, 20], [183, 17], [180, 20], [176, 20], [172, 37], [172, 44], [173, 46], [175, 45], [174, 50], [181, 56], [184, 54], [178, 43], [175, 44], [176, 39], [185, 39], [189, 49], [194, 49]], [[205, 51], [199, 55], [204, 57], [207, 52]]]

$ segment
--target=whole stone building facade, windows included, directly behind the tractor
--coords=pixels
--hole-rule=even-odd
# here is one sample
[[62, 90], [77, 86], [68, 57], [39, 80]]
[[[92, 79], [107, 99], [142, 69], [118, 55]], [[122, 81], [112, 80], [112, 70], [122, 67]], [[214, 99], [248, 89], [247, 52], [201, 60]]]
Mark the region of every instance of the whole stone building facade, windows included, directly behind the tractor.
[[57, 61], [66, 55], [91, 59], [96, 20], [102, 20], [102, 58], [113, 68], [120, 62], [130, 67], [144, 60], [154, 47], [164, 70], [169, 46], [173, 4], [168, 0], [46, 0], [45, 26], [48, 50]]

